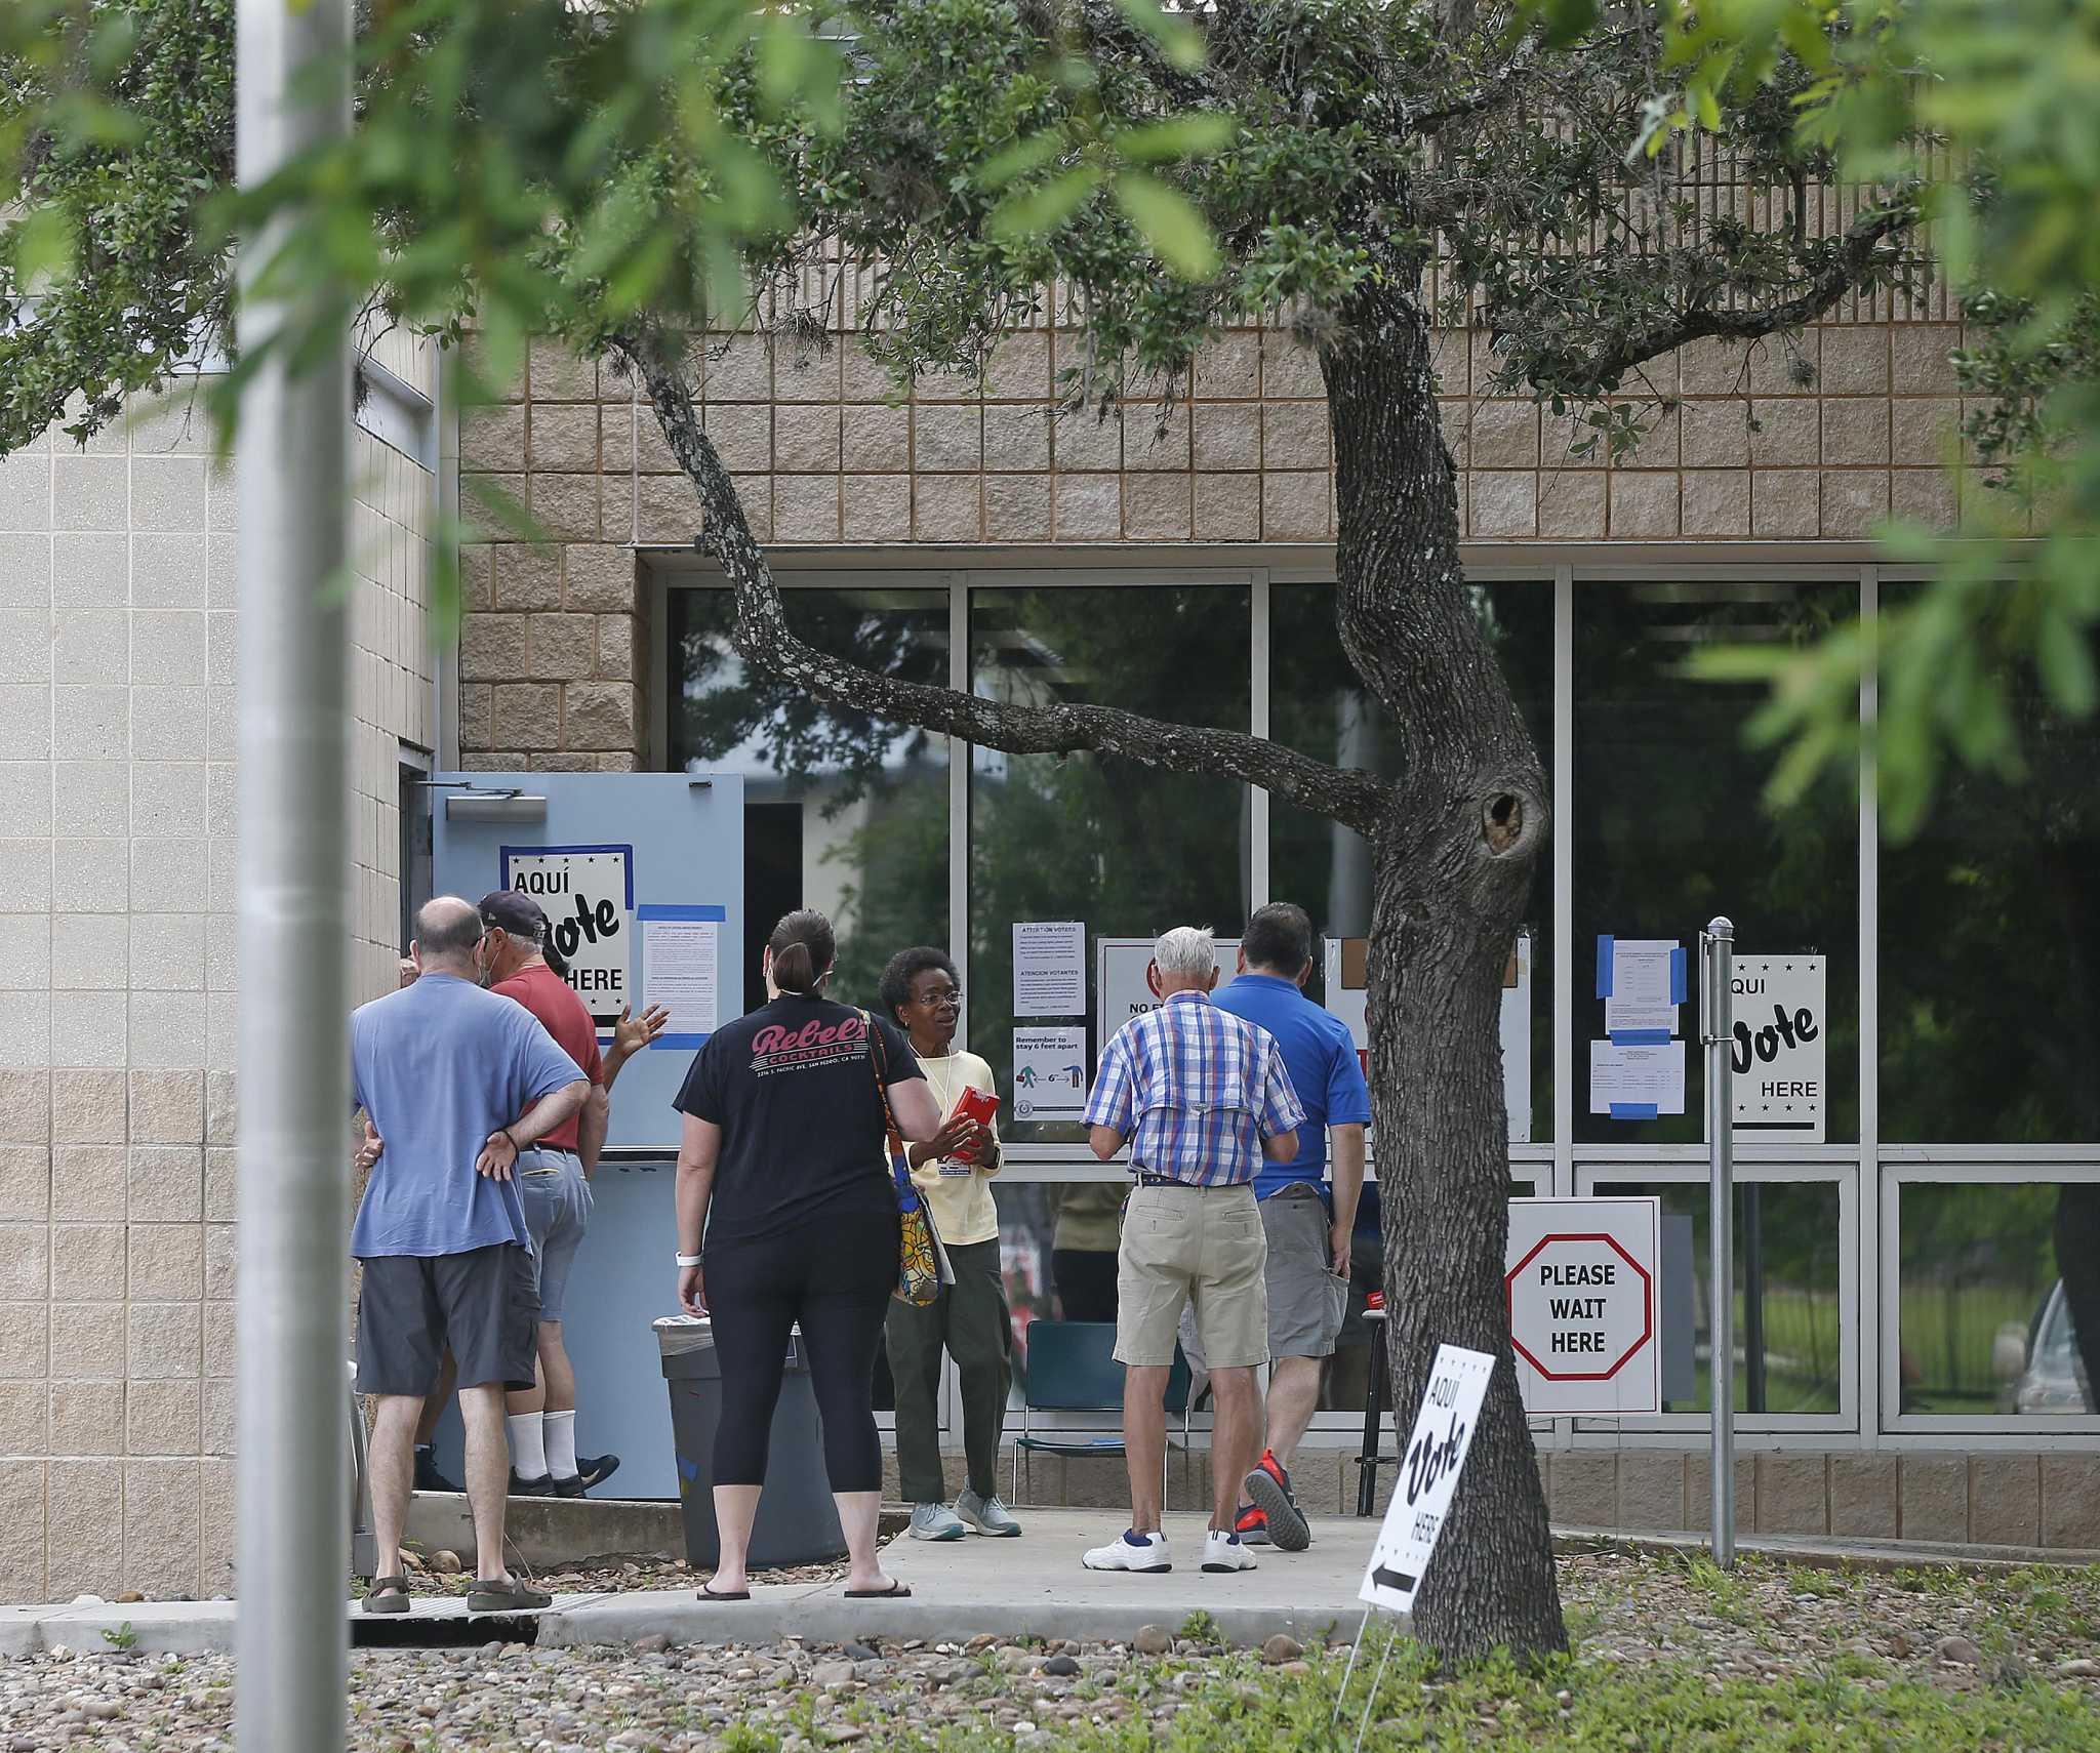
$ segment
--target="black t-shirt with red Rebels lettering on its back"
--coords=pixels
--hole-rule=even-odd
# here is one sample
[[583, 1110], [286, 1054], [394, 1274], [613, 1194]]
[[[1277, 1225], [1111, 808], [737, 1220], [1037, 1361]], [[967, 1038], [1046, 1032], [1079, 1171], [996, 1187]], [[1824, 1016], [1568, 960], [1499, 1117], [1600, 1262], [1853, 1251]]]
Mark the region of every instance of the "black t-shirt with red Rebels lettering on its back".
[[[924, 1077], [905, 1033], [874, 1022], [888, 1081]], [[708, 1247], [779, 1234], [819, 1209], [895, 1209], [867, 1025], [850, 1006], [783, 993], [716, 1029], [674, 1106], [722, 1127]]]

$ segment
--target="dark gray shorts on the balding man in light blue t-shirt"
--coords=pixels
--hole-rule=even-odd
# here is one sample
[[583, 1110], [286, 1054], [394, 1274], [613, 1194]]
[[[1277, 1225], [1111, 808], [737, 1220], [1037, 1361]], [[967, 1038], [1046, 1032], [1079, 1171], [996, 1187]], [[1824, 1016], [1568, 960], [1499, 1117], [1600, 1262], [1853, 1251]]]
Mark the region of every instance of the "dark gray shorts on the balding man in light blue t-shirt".
[[357, 1392], [422, 1398], [449, 1350], [462, 1388], [525, 1390], [540, 1346], [531, 1255], [517, 1243], [468, 1253], [386, 1253], [361, 1262]]

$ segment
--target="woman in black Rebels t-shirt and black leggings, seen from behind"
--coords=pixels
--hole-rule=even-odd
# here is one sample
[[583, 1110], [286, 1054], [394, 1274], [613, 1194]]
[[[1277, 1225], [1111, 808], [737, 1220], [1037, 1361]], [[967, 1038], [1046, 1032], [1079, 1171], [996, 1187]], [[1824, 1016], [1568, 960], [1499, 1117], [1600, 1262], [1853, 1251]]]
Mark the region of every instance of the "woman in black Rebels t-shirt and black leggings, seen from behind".
[[853, 1558], [846, 1593], [909, 1593], [876, 1566], [876, 1348], [897, 1287], [897, 1195], [878, 1079], [914, 1144], [939, 1136], [941, 1111], [895, 1025], [823, 997], [836, 953], [823, 913], [783, 917], [762, 964], [771, 1004], [708, 1037], [676, 1102], [685, 1115], [678, 1302], [714, 1318], [722, 1369], [714, 1436], [722, 1554], [701, 1587], [708, 1600], [750, 1593], [743, 1564], [796, 1323]]

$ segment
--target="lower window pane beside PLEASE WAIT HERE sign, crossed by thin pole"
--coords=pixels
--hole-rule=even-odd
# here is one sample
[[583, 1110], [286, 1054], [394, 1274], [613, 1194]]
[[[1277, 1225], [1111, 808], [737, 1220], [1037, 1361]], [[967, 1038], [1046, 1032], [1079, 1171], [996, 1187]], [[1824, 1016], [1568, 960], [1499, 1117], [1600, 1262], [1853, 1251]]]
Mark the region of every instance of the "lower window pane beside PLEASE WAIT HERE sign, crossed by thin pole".
[[[1709, 1192], [1703, 1182], [1600, 1182], [1600, 1199], [1663, 1201], [1663, 1411], [1714, 1409]], [[1735, 1409], [1835, 1413], [1840, 1384], [1838, 1182], [1737, 1182]], [[1690, 1285], [1678, 1304], [1674, 1285]], [[1686, 1321], [1688, 1316], [1688, 1321]]]

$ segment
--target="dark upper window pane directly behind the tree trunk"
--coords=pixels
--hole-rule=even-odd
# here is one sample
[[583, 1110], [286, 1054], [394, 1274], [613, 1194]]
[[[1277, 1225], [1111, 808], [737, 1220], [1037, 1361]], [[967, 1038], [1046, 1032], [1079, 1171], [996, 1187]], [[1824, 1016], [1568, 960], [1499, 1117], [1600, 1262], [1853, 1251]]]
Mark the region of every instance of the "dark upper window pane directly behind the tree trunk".
[[[1548, 775], [1554, 766], [1554, 588], [1548, 582], [1474, 586], [1480, 626], [1502, 661]], [[1394, 770], [1378, 699], [1342, 655], [1331, 584], [1279, 584], [1268, 592], [1268, 735], [1285, 747], [1359, 766]], [[1363, 836], [1283, 802], [1268, 810], [1268, 892], [1296, 901], [1321, 936], [1365, 936], [1371, 928], [1371, 850]], [[1541, 861], [1531, 930], [1531, 1138], [1552, 1140], [1554, 1010], [1552, 884]], [[1325, 997], [1325, 966], [1312, 962], [1306, 997]]]

